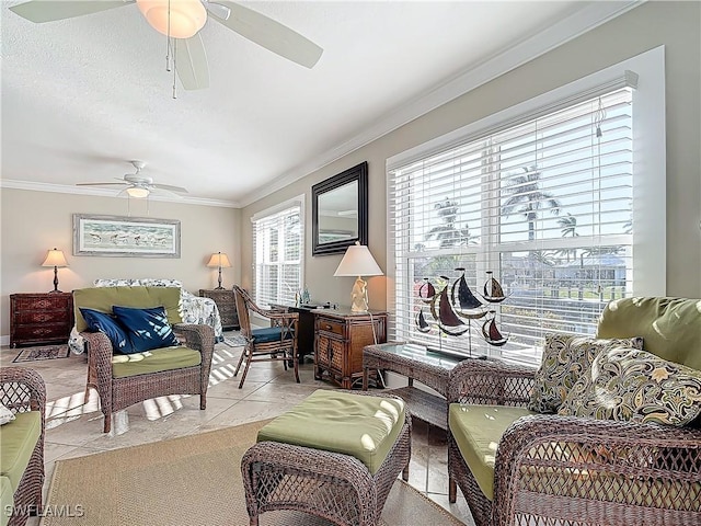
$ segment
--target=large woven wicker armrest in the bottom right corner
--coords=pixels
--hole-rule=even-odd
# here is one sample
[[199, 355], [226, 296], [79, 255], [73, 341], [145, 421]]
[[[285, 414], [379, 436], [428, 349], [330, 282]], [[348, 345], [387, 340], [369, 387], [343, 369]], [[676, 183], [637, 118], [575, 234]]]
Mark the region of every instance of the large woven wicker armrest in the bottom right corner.
[[[674, 508], [669, 513], [699, 521], [700, 459], [701, 430], [525, 416], [509, 426], [497, 448], [493, 524], [514, 524], [515, 511], [528, 514], [531, 506], [533, 515], [562, 519], [562, 513], [573, 513], [586, 524], [596, 523], [597, 513], [613, 516], [619, 510], [616, 524], [639, 525], [644, 521], [636, 513], [648, 506]], [[582, 505], [575, 512], [555, 512], [563, 499]], [[676, 521], [669, 524], [679, 524]]]

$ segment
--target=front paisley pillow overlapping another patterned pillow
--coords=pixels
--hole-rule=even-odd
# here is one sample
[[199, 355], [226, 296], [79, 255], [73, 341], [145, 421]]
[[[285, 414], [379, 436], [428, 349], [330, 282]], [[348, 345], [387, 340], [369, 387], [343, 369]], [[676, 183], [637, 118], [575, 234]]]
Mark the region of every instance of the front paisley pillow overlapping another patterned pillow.
[[558, 414], [683, 426], [701, 414], [701, 370], [645, 351], [609, 348], [594, 358]]

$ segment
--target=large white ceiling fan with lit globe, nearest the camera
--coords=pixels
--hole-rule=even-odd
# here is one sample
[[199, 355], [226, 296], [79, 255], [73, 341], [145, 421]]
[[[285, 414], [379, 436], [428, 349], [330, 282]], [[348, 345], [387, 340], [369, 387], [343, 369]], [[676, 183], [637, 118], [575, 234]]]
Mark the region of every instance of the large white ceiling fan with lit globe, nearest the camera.
[[148, 23], [175, 42], [175, 70], [185, 90], [209, 87], [205, 46], [199, 35], [209, 15], [264, 48], [312, 68], [323, 49], [299, 33], [228, 0], [30, 0], [10, 8], [35, 23], [72, 19], [136, 3]]

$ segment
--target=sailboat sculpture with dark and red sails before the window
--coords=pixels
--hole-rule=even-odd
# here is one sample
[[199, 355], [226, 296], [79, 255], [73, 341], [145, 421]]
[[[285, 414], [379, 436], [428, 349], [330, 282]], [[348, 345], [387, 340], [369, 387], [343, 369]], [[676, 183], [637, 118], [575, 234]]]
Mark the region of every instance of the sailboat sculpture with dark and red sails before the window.
[[[449, 336], [460, 336], [468, 333], [471, 346], [470, 323], [473, 320], [486, 318], [481, 327], [481, 334], [486, 343], [499, 347], [506, 344], [508, 336], [504, 336], [496, 325], [496, 311], [485, 309], [485, 304], [472, 293], [464, 277], [466, 270], [458, 267], [456, 271], [460, 272], [460, 276], [452, 284], [450, 284], [449, 277], [440, 276], [446, 282], [440, 291], [436, 291], [436, 287], [427, 277], [424, 278], [424, 284], [418, 289], [420, 299], [429, 306], [435, 327]], [[480, 296], [487, 304], [504, 301], [506, 296], [502, 285], [494, 278], [491, 271], [486, 274], [487, 281], [483, 287], [484, 294]], [[450, 294], [448, 294], [448, 290], [450, 290]], [[432, 324], [426, 320], [423, 307], [416, 315], [416, 328], [418, 332], [423, 333], [428, 333], [432, 330]], [[470, 352], [472, 352], [471, 348]]]

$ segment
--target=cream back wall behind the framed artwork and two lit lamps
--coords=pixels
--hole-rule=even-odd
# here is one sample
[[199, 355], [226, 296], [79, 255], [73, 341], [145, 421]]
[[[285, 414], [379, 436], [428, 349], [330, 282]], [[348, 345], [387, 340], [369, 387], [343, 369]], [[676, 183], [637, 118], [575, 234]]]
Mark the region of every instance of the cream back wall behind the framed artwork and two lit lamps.
[[[8, 179], [13, 179], [11, 174]], [[223, 286], [239, 283], [240, 210], [234, 208], [131, 201], [133, 217], [179, 219], [181, 256], [95, 258], [72, 255], [72, 215], [127, 215], [127, 199], [3, 188], [1, 204], [0, 334], [10, 334], [9, 295], [48, 291], [54, 288], [54, 268], [41, 266], [46, 251], [64, 251], [70, 266], [58, 270], [59, 289], [69, 291], [92, 286], [99, 277], [163, 277], [180, 279], [197, 294], [217, 286], [217, 268], [208, 268], [212, 252], [226, 252], [233, 265], [222, 268]]]

